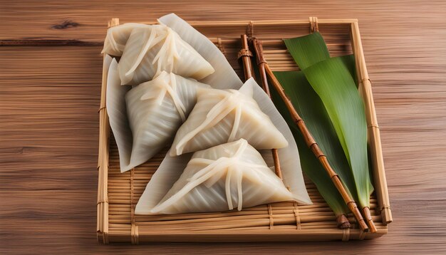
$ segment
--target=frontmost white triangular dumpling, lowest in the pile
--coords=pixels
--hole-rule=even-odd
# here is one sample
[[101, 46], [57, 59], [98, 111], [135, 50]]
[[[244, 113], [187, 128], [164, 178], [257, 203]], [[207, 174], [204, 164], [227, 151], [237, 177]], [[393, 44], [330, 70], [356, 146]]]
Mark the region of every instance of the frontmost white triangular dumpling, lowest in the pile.
[[135, 214], [222, 212], [293, 200], [260, 153], [241, 139], [195, 152], [180, 179], [155, 207], [143, 195]]

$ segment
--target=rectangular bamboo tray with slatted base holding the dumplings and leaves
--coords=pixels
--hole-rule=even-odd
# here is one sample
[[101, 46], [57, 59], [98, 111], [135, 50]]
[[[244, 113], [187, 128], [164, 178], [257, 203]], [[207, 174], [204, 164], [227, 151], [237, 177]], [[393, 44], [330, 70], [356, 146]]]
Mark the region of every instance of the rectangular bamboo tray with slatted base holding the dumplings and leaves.
[[[112, 19], [109, 26], [119, 24]], [[152, 23], [147, 23], [152, 24]], [[304, 36], [318, 28], [323, 34], [331, 56], [354, 53], [359, 90], [365, 102], [368, 121], [368, 141], [373, 164], [375, 192], [371, 196], [370, 211], [378, 231], [365, 233], [354, 224], [352, 229], [338, 229], [336, 217], [318, 193], [315, 185], [305, 179], [313, 205], [294, 202], [265, 204], [241, 212], [195, 213], [165, 216], [135, 215], [138, 203], [150, 177], [160, 165], [165, 152], [123, 174], [119, 170], [118, 148], [110, 132], [105, 108], [107, 69], [103, 68], [100, 100], [100, 140], [98, 159], [98, 241], [131, 242], [150, 241], [329, 241], [373, 239], [387, 233], [392, 222], [387, 182], [381, 150], [380, 132], [376, 121], [370, 79], [361, 45], [356, 19], [316, 19], [289, 21], [216, 21], [190, 22], [204, 33], [227, 57], [242, 77], [242, 66], [237, 53], [242, 47], [240, 35], [256, 36], [264, 44], [266, 61], [273, 71], [299, 70], [286, 52], [282, 38]]]

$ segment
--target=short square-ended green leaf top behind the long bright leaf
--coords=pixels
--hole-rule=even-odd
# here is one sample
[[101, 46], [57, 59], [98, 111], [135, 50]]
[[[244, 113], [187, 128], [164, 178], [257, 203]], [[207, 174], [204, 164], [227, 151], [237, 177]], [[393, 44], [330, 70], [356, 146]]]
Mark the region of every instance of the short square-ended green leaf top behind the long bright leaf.
[[308, 36], [284, 39], [284, 42], [301, 70], [330, 58], [328, 48], [319, 32], [311, 33]]

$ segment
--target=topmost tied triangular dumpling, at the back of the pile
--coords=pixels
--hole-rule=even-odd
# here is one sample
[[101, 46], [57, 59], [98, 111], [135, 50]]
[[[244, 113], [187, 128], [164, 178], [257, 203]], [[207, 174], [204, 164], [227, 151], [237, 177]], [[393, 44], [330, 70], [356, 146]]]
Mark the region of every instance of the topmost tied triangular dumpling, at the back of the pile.
[[162, 71], [200, 80], [214, 68], [167, 26], [133, 28], [119, 61], [121, 84], [140, 84]]

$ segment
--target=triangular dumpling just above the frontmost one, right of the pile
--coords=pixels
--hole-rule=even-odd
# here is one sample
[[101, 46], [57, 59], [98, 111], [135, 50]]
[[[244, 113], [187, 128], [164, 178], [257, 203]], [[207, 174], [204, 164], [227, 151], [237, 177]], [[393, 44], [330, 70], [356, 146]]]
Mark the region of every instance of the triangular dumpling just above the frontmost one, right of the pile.
[[286, 147], [284, 135], [252, 98], [253, 85], [246, 83], [239, 90], [199, 89], [197, 105], [175, 135], [170, 155], [204, 150], [240, 138], [259, 150]]

